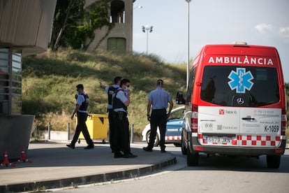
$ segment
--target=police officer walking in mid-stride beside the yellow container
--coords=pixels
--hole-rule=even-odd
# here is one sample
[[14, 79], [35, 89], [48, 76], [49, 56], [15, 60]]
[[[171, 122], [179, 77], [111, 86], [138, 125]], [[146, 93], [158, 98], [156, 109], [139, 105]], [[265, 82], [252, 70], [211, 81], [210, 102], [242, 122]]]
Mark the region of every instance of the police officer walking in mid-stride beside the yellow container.
[[93, 149], [94, 148], [94, 141], [91, 140], [89, 131], [87, 129], [87, 124], [85, 123], [87, 121], [87, 107], [89, 105], [89, 96], [84, 92], [84, 87], [82, 84], [76, 86], [77, 91], [77, 100], [76, 100], [76, 106], [73, 110], [73, 114], [71, 115], [71, 120], [73, 120], [73, 117], [76, 113], [77, 115], [77, 126], [75, 129], [75, 134], [73, 136], [73, 140], [70, 144], [66, 145], [68, 148], [75, 148], [75, 143], [80, 136], [80, 132], [82, 131], [82, 134], [85, 138], [85, 141], [87, 141], [87, 147], [84, 149]]

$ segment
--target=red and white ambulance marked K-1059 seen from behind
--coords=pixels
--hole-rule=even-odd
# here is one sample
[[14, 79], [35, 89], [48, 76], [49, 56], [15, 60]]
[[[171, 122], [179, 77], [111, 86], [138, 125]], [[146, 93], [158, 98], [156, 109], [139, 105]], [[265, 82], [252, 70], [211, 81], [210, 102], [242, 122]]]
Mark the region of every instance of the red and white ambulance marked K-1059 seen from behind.
[[205, 45], [193, 60], [186, 94], [181, 152], [188, 166], [207, 155], [266, 155], [279, 168], [286, 148], [286, 91], [276, 48]]

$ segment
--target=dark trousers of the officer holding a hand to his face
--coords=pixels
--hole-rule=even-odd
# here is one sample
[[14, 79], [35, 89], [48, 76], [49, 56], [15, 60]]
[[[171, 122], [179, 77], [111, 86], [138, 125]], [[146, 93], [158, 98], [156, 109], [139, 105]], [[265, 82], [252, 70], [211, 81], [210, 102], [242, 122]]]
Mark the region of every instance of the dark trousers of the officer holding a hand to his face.
[[114, 112], [114, 153], [124, 152], [124, 155], [131, 153], [129, 141], [128, 118], [124, 112]]

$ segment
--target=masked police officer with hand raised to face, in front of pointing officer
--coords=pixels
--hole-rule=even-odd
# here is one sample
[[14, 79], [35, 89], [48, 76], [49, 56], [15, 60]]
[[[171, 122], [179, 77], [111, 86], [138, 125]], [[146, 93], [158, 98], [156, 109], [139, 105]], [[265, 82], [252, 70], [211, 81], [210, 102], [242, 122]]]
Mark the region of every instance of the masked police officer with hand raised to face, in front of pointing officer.
[[[112, 109], [114, 118], [114, 158], [125, 157], [133, 158], [137, 157], [131, 153], [131, 146], [129, 141], [128, 131], [128, 106], [130, 104], [130, 81], [128, 79], [121, 80], [120, 87], [115, 92], [112, 98]], [[121, 153], [124, 152], [124, 154]]]

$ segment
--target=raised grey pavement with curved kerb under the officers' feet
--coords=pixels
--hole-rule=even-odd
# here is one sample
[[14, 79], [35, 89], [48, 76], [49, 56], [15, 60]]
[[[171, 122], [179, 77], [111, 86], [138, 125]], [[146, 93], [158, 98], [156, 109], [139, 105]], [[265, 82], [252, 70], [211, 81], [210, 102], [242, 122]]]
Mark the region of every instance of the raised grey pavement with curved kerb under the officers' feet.
[[66, 144], [29, 143], [25, 162], [9, 160], [14, 166], [0, 166], [0, 192], [35, 192], [135, 178], [177, 162], [175, 155], [161, 153], [159, 147], [145, 152], [146, 143], [131, 144], [131, 152], [138, 155], [135, 158], [114, 158], [109, 144], [95, 143], [90, 150], [84, 150], [86, 143], [77, 143], [74, 150]]

